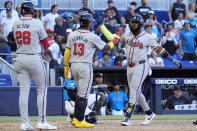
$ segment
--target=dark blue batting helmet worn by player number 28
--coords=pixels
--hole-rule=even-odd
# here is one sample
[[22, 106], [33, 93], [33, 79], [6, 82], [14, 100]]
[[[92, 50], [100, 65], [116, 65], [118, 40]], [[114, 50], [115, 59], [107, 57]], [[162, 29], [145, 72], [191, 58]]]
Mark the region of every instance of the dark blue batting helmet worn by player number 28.
[[34, 10], [35, 6], [31, 1], [24, 2], [21, 4], [21, 13], [24, 14], [32, 14], [36, 15], [36, 11]]

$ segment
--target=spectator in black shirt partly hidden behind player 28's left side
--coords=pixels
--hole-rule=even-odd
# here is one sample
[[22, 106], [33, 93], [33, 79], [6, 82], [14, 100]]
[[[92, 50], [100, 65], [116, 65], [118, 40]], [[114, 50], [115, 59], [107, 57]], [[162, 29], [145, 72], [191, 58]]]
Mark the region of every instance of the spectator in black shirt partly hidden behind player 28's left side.
[[10, 57], [11, 57], [11, 64], [13, 64], [13, 59], [16, 58], [16, 49], [17, 49], [17, 46], [16, 46], [16, 41], [14, 39], [14, 34], [13, 34], [13, 31], [11, 31], [9, 34], [8, 34], [8, 41], [7, 41], [7, 44], [10, 46]]

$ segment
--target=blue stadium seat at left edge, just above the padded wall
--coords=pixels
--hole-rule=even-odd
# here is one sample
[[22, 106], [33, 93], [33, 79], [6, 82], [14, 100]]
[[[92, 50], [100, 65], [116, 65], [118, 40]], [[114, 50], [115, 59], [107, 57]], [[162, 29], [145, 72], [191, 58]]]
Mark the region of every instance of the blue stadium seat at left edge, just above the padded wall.
[[12, 86], [10, 75], [0, 73], [0, 86]]

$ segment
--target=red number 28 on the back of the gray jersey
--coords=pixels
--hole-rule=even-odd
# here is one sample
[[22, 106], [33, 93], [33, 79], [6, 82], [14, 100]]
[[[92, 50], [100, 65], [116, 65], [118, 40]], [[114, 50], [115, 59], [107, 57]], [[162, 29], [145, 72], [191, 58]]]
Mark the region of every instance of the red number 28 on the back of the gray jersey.
[[19, 45], [25, 44], [29, 45], [31, 43], [31, 33], [29, 31], [16, 31], [16, 40]]

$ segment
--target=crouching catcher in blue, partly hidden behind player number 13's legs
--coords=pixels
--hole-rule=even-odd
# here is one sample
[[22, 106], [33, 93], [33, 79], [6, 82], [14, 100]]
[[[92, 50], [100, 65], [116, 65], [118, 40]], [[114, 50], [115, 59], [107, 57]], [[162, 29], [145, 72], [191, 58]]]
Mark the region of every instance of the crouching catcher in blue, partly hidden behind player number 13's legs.
[[[97, 113], [105, 102], [105, 90], [96, 88], [96, 92], [88, 96], [87, 107], [85, 110], [85, 121], [95, 124], [98, 120]], [[73, 118], [75, 99], [77, 97], [76, 84], [73, 80], [65, 80], [64, 82], [64, 101], [65, 109], [68, 113], [67, 121], [71, 122]]]

